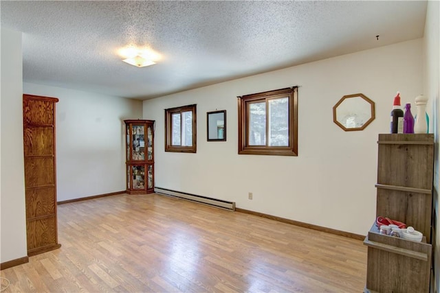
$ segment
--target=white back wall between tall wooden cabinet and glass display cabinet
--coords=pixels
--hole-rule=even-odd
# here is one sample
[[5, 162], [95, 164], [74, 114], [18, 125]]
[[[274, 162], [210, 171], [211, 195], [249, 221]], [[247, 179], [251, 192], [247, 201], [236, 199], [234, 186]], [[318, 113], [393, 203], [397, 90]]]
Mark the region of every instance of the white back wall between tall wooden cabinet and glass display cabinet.
[[142, 101], [41, 84], [23, 93], [58, 97], [56, 185], [58, 201], [123, 191], [124, 119], [142, 118]]

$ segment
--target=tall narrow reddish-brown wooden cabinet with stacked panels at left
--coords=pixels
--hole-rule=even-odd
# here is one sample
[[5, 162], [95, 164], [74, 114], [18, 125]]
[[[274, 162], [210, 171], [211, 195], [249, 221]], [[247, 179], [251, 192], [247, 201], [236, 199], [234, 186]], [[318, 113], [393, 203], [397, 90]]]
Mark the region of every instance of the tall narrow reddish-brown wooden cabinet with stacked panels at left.
[[28, 255], [60, 248], [56, 220], [55, 97], [23, 95]]

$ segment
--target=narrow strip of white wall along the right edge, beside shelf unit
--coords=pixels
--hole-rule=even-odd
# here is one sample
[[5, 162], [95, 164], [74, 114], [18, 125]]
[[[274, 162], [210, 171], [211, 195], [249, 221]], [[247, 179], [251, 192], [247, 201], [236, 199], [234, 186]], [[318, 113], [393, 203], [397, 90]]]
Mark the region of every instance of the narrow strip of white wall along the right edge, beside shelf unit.
[[[430, 119], [430, 126], [433, 127], [435, 139], [435, 162], [434, 162], [434, 213], [437, 214], [437, 222], [434, 222], [434, 247], [432, 248], [434, 257], [435, 282], [434, 290], [437, 292], [440, 285], [440, 218], [439, 218], [439, 191], [440, 191], [440, 174], [439, 174], [439, 134], [440, 134], [440, 3], [439, 1], [428, 1], [426, 11], [425, 34], [423, 38], [423, 55], [424, 58], [424, 93], [430, 99], [434, 116]], [[432, 129], [432, 128], [431, 128]]]

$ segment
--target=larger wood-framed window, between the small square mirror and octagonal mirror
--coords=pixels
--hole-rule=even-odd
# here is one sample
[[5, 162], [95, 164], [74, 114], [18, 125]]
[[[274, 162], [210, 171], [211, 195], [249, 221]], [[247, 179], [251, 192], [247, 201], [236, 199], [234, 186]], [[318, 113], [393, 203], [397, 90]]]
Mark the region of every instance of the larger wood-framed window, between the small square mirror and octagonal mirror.
[[239, 154], [298, 156], [298, 87], [239, 97]]

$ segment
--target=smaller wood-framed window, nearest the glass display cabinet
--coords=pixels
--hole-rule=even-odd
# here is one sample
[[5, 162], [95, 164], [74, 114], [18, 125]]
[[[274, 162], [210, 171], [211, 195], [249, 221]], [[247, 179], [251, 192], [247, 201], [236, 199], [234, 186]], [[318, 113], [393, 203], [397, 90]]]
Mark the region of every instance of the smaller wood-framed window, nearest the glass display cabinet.
[[196, 152], [196, 105], [165, 109], [165, 152]]

